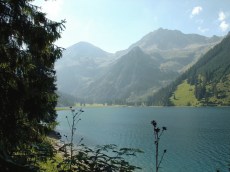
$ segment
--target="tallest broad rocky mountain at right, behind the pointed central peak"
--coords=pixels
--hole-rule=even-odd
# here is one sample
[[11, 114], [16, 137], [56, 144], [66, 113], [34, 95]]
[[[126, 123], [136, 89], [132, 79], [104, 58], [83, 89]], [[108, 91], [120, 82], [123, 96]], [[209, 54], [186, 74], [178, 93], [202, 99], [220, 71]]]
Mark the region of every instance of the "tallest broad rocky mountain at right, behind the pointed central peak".
[[139, 46], [153, 58], [161, 60], [161, 69], [183, 73], [221, 39], [217, 36], [209, 38], [160, 28], [147, 34], [127, 50], [117, 52], [117, 55], [126, 54], [133, 47]]

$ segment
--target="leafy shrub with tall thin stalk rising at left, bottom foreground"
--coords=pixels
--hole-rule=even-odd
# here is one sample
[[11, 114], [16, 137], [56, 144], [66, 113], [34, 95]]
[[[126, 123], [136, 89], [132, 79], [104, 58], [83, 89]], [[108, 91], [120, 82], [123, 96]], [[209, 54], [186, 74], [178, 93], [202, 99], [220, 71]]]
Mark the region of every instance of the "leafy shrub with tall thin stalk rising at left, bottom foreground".
[[[82, 109], [75, 110], [70, 107], [72, 119], [66, 119], [70, 127], [70, 141], [65, 143], [60, 150], [64, 152], [64, 160], [57, 165], [58, 171], [124, 171], [131, 172], [140, 167], [131, 165], [125, 160], [127, 156], [136, 156], [142, 151], [133, 148], [118, 148], [114, 144], [87, 147], [84, 144], [74, 147], [73, 139], [76, 132], [76, 125], [81, 120]], [[67, 141], [68, 137], [65, 136]], [[83, 138], [80, 140], [80, 142]], [[78, 144], [80, 144], [80, 142]]]

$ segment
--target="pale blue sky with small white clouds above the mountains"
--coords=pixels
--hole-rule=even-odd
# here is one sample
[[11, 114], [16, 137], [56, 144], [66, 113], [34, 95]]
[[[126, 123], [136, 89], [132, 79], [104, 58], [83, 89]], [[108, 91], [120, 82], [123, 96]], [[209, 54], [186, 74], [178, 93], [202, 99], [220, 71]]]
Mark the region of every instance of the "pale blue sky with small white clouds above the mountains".
[[35, 0], [47, 18], [66, 20], [55, 44], [80, 41], [114, 53], [159, 28], [211, 37], [230, 30], [230, 0]]

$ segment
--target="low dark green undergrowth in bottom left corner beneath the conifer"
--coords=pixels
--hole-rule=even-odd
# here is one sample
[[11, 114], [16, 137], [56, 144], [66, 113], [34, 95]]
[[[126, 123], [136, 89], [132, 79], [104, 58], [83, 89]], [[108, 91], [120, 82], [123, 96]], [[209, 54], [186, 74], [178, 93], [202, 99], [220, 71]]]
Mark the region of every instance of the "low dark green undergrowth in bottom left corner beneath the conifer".
[[41, 142], [24, 144], [12, 155], [0, 155], [0, 168], [2, 171], [41, 171], [41, 164], [51, 162], [56, 152], [50, 141], [42, 139]]

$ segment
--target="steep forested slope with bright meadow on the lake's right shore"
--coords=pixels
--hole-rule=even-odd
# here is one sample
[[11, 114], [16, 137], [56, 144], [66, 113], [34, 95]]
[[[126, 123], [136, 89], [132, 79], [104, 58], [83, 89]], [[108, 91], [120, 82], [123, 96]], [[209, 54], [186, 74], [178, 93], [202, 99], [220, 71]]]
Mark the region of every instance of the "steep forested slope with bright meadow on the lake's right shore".
[[148, 104], [230, 105], [230, 34]]

